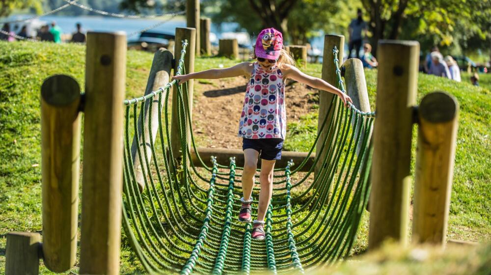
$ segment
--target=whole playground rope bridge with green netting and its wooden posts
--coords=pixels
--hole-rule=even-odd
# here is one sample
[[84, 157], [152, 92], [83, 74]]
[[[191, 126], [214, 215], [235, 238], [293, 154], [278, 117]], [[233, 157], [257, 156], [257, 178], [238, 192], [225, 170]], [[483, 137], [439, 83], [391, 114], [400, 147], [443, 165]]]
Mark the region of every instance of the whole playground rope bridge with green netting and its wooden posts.
[[[150, 274], [303, 273], [349, 254], [369, 196], [369, 248], [387, 238], [404, 244], [414, 122], [419, 134], [413, 239], [445, 243], [458, 106], [437, 92], [414, 108], [416, 42], [380, 43], [375, 115], [361, 62], [349, 59], [339, 66], [344, 37], [326, 35], [322, 78], [346, 92], [344, 72], [355, 104], [345, 108], [337, 97], [320, 93], [318, 136], [309, 152], [285, 152], [293, 162], [278, 163], [266, 241], [253, 242], [251, 226], [236, 222], [243, 155], [208, 150], [216, 157], [203, 159], [192, 136], [192, 81], [168, 83], [173, 65], [174, 74], [193, 71], [195, 37], [193, 28], [176, 29], [176, 41], [183, 43], [176, 43], [174, 59], [168, 51], [156, 53], [142, 97], [123, 101], [121, 33], [88, 33], [83, 96], [67, 76], [43, 83], [43, 243], [38, 233], [9, 233], [7, 275], [37, 274], [39, 258], [55, 272], [75, 264], [80, 111], [80, 274], [119, 273], [121, 220]], [[221, 162], [224, 156], [228, 164]]]

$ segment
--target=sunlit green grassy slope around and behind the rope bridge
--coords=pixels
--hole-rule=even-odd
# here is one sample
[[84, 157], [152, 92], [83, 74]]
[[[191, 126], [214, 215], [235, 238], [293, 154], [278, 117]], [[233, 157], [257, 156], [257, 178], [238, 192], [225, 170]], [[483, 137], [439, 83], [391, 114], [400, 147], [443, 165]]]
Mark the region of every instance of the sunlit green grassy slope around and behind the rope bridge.
[[[41, 230], [41, 155], [39, 93], [43, 80], [68, 74], [84, 86], [85, 48], [80, 45], [0, 42], [0, 271], [5, 263], [5, 235], [10, 231]], [[128, 52], [127, 97], [144, 91], [152, 55]], [[197, 58], [196, 70], [235, 64], [223, 58]], [[321, 65], [309, 64], [306, 73], [320, 76]], [[375, 108], [376, 71], [366, 71], [372, 108]], [[468, 76], [463, 75], [464, 81]], [[460, 104], [460, 121], [448, 237], [483, 241], [491, 239], [491, 76], [481, 75], [481, 87], [419, 75], [418, 101], [443, 90]], [[199, 92], [199, 91], [196, 91]], [[306, 151], [317, 128], [315, 113], [289, 123], [293, 135], [288, 150]], [[310, 143], [312, 144], [312, 143]], [[415, 145], [413, 146], [415, 148]], [[413, 155], [414, 156], [414, 155]], [[359, 247], [367, 243], [367, 219]], [[124, 245], [124, 242], [123, 242]], [[122, 249], [122, 273], [141, 270], [128, 245]], [[51, 274], [42, 268], [43, 274]]]

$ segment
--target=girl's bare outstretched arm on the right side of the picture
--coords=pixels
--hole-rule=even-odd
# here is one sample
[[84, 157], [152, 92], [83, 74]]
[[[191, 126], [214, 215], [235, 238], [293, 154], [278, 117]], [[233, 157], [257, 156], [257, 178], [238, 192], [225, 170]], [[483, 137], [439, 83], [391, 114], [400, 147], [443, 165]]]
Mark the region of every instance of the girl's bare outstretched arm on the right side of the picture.
[[306, 85], [311, 86], [312, 88], [320, 89], [320, 90], [325, 90], [327, 92], [333, 93], [338, 95], [341, 100], [343, 101], [344, 105], [347, 104], [347, 102], [353, 103], [353, 100], [351, 98], [343, 93], [340, 89], [334, 87], [333, 85], [325, 82], [324, 80], [316, 77], [309, 76], [307, 74], [302, 73], [298, 68], [284, 64], [282, 69], [281, 69], [283, 76], [285, 78], [291, 78], [295, 81], [298, 81], [300, 83], [304, 83]]

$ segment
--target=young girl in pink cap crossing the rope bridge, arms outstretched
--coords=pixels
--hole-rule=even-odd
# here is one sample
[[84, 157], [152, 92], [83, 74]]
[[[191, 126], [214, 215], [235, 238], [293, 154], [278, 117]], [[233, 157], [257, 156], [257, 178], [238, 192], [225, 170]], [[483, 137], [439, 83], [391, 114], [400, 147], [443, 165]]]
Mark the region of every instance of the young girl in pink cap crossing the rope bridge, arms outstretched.
[[188, 75], [174, 76], [184, 83], [190, 79], [219, 79], [246, 76], [244, 107], [239, 123], [243, 138], [244, 171], [242, 173], [241, 222], [251, 222], [252, 188], [258, 157], [261, 157], [259, 205], [254, 220], [252, 238], [265, 238], [264, 219], [273, 192], [273, 169], [281, 158], [286, 136], [285, 80], [292, 79], [313, 88], [338, 95], [344, 104], [351, 98], [322, 79], [308, 76], [293, 66], [294, 61], [283, 50], [281, 32], [274, 28], [263, 29], [257, 39], [253, 55], [256, 62], [242, 62], [225, 69], [210, 69]]

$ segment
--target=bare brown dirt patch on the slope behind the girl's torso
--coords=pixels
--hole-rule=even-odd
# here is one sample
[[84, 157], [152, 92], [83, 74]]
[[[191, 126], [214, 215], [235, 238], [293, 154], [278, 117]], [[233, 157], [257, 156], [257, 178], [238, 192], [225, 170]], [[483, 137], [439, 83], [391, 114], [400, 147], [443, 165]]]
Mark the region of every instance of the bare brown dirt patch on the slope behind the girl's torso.
[[[192, 124], [197, 146], [242, 148], [242, 138], [237, 137], [237, 131], [246, 83], [245, 77], [194, 81]], [[300, 116], [314, 110], [316, 98], [317, 90], [287, 81], [287, 121], [298, 121]]]

